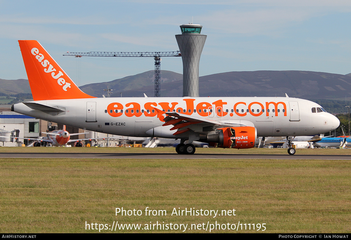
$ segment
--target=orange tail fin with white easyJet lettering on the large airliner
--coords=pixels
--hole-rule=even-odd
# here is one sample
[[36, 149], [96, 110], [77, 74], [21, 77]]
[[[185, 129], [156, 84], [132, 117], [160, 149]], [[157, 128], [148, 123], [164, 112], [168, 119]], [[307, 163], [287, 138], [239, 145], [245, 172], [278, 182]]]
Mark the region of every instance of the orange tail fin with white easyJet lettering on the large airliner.
[[19, 40], [34, 101], [94, 98], [82, 92], [35, 40]]

